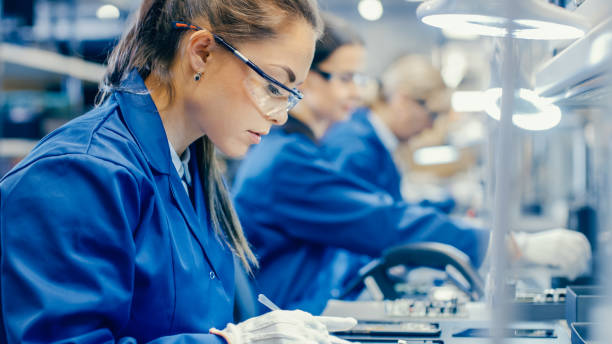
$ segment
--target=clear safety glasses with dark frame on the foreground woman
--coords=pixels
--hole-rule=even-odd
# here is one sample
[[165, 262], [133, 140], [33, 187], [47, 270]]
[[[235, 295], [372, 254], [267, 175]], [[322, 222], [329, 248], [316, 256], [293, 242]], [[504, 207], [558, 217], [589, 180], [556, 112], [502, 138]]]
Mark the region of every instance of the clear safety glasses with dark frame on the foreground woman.
[[[173, 26], [175, 29], [204, 30], [197, 25], [178, 21], [173, 22]], [[251, 100], [265, 116], [273, 119], [282, 118], [287, 112], [293, 109], [302, 98], [304, 98], [302, 92], [297, 88], [285, 86], [280, 81], [266, 74], [266, 72], [242, 55], [242, 53], [231, 44], [227, 43], [223, 38], [214, 33], [212, 35], [215, 42], [233, 53], [261, 77], [254, 78], [253, 76], [249, 76], [245, 79], [244, 85]]]

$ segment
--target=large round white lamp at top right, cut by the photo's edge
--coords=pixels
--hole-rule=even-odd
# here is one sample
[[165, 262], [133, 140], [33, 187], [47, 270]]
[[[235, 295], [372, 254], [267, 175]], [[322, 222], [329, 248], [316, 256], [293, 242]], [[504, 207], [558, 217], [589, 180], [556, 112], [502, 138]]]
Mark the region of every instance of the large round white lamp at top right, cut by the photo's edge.
[[[461, 34], [502, 37], [508, 32], [509, 0], [429, 0], [417, 8], [425, 24]], [[576, 39], [589, 28], [576, 13], [541, 0], [511, 0], [512, 36], [522, 39]]]

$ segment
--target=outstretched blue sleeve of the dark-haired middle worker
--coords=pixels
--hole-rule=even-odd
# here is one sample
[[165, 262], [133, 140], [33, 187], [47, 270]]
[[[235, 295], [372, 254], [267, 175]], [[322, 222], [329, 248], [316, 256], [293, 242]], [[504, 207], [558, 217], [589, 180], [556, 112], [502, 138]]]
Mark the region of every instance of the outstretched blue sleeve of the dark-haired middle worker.
[[395, 201], [384, 190], [344, 175], [325, 161], [291, 152], [281, 158], [274, 185], [268, 183], [269, 202], [252, 197], [261, 192], [238, 193], [244, 220], [311, 243], [374, 257], [395, 245], [434, 241], [460, 249], [475, 265], [484, 259], [486, 230], [462, 224], [433, 208]]

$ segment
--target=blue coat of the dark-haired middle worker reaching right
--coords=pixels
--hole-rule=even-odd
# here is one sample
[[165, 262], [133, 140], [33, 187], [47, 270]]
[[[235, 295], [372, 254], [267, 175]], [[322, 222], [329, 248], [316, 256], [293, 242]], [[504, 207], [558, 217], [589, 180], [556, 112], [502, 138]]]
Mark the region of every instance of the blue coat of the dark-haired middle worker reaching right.
[[285, 308], [320, 313], [368, 257], [395, 245], [442, 242], [479, 263], [488, 242], [487, 231], [334, 169], [291, 117], [247, 154], [232, 194], [260, 259], [258, 288]]

